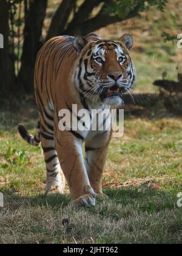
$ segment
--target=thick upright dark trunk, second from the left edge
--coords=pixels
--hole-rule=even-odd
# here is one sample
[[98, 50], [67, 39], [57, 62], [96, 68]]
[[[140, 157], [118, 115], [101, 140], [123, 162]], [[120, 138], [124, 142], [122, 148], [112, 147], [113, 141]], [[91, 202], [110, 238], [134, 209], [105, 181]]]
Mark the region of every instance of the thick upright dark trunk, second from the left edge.
[[41, 46], [42, 26], [44, 23], [47, 0], [24, 0], [25, 28], [21, 69], [18, 84], [29, 92], [33, 89], [33, 74], [36, 54]]

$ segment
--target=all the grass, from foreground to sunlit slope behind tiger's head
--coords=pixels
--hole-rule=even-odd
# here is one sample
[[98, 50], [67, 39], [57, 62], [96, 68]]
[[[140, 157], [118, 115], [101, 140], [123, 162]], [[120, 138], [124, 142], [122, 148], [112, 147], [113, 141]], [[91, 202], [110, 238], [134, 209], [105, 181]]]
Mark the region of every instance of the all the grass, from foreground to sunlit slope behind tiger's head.
[[[182, 208], [177, 206], [182, 191], [182, 118], [164, 108], [152, 86], [165, 70], [167, 79], [177, 79], [179, 52], [174, 44], [164, 43], [161, 34], [170, 32], [169, 27], [180, 32], [179, 3], [169, 1], [165, 13], [151, 10], [98, 31], [104, 38], [133, 35], [135, 91], [143, 97], [126, 106], [124, 137], [110, 143], [103, 179], [108, 199], [98, 199], [95, 208], [70, 206], [68, 187], [64, 196], [45, 194], [42, 150], [26, 144], [17, 132], [18, 123], [32, 133], [36, 127], [30, 99], [18, 110], [11, 105], [10, 110], [1, 109], [0, 190], [5, 205], [0, 208], [0, 243], [182, 243]], [[49, 5], [46, 22], [55, 10], [51, 1]], [[62, 226], [65, 218], [70, 228]]]

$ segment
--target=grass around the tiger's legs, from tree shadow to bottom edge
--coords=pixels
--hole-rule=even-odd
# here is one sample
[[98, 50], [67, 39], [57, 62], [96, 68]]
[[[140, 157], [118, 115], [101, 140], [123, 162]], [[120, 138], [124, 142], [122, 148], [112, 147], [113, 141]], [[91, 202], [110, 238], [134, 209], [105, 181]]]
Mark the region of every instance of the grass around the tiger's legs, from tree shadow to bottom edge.
[[[182, 243], [181, 118], [126, 119], [124, 137], [112, 140], [107, 158], [109, 199], [86, 209], [69, 205], [68, 188], [65, 196], [44, 194], [41, 148], [21, 140], [22, 115], [15, 116], [0, 114], [0, 243]], [[33, 132], [36, 119], [25, 123]], [[72, 229], [62, 226], [64, 218]]]

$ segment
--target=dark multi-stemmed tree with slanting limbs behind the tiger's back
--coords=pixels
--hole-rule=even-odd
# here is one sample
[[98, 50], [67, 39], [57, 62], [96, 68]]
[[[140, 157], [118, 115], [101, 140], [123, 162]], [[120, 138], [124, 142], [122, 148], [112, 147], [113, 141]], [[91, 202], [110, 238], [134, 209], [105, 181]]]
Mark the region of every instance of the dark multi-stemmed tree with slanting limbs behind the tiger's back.
[[[21, 59], [21, 70], [18, 75], [18, 83], [25, 91], [29, 92], [33, 89], [33, 73], [36, 60], [36, 54], [42, 44], [41, 34], [42, 26], [45, 19], [48, 0], [24, 0], [25, 4], [25, 29], [24, 29], [24, 46]], [[77, 0], [62, 0], [53, 16], [50, 24], [49, 32], [46, 40], [57, 35], [86, 35], [108, 24], [121, 21], [122, 18], [110, 15], [106, 12], [106, 4], [112, 0], [106, 0], [103, 8], [94, 18], [90, 18], [92, 11], [103, 0], [85, 0], [79, 7], [79, 10], [73, 15], [70, 21], [70, 15], [74, 10]], [[29, 5], [28, 5], [29, 4]], [[123, 20], [136, 16], [138, 13], [138, 5], [132, 12], [127, 13]], [[70, 21], [70, 23], [69, 23]], [[45, 40], [45, 41], [46, 41]]]

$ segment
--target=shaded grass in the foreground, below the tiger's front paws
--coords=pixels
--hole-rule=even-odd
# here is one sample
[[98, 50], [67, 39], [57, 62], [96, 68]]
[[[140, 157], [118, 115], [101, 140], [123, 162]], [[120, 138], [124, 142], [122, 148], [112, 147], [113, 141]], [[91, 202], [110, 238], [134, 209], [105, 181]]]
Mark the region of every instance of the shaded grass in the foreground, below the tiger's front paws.
[[[7, 199], [1, 217], [1, 243], [181, 243], [181, 212], [173, 193], [128, 188], [106, 191], [95, 208], [67, 205], [69, 198]], [[15, 200], [15, 201], [13, 201]], [[15, 203], [16, 202], [16, 203]], [[13, 212], [13, 213], [12, 213]], [[11, 215], [11, 218], [10, 218]], [[62, 226], [62, 218], [73, 224]], [[4, 227], [4, 228], [3, 228]], [[5, 231], [4, 231], [5, 229]]]

